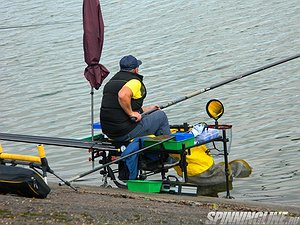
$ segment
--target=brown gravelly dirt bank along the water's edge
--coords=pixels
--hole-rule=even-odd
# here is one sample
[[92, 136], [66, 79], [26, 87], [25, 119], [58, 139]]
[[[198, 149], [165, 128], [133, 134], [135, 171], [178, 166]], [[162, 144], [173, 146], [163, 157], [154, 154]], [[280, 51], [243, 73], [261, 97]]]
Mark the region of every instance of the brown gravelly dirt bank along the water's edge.
[[211, 211], [288, 211], [300, 207], [235, 199], [135, 193], [117, 188], [51, 185], [45, 199], [0, 195], [0, 224], [205, 224]]

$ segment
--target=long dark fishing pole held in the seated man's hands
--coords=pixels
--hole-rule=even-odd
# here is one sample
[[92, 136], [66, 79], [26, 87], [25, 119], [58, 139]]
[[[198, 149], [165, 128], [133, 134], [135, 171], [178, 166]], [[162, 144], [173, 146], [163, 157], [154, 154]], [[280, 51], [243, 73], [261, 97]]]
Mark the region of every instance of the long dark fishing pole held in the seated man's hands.
[[[231, 82], [233, 82], [233, 81], [235, 81], [235, 80], [242, 79], [242, 78], [244, 78], [244, 77], [247, 77], [247, 76], [250, 76], [250, 75], [252, 75], [252, 74], [258, 73], [258, 72], [260, 72], [260, 71], [269, 69], [269, 68], [271, 68], [271, 67], [273, 67], [273, 66], [277, 66], [277, 65], [279, 65], [279, 64], [282, 64], [282, 63], [291, 61], [291, 60], [293, 60], [293, 59], [297, 59], [297, 58], [299, 58], [299, 57], [300, 57], [300, 54], [297, 54], [297, 55], [294, 55], [294, 56], [291, 56], [291, 57], [288, 57], [288, 58], [285, 58], [285, 59], [282, 59], [282, 60], [279, 60], [279, 61], [276, 61], [276, 62], [267, 64], [267, 65], [261, 66], [261, 67], [259, 67], [259, 68], [257, 68], [257, 69], [251, 70], [251, 71], [249, 71], [249, 72], [240, 74], [240, 75], [235, 76], [235, 77], [231, 77], [231, 78], [229, 78], [229, 79], [226, 79], [226, 80], [221, 81], [221, 82], [219, 82], [219, 83], [213, 84], [213, 85], [211, 85], [211, 86], [209, 86], [209, 87], [206, 87], [206, 88], [204, 88], [204, 89], [201, 89], [201, 90], [198, 90], [198, 91], [194, 91], [194, 92], [192, 92], [192, 93], [190, 93], [190, 94], [188, 94], [188, 95], [182, 96], [182, 97], [180, 97], [180, 98], [178, 98], [178, 99], [175, 99], [175, 100], [173, 100], [173, 101], [169, 101], [169, 102], [167, 102], [167, 103], [164, 104], [164, 105], [159, 105], [159, 108], [160, 108], [160, 109], [167, 108], [167, 107], [169, 107], [169, 106], [175, 105], [175, 104], [177, 104], [177, 103], [179, 103], [179, 102], [182, 102], [182, 101], [184, 101], [184, 100], [187, 100], [187, 99], [189, 99], [189, 98], [192, 98], [192, 97], [194, 97], [194, 96], [197, 96], [197, 95], [199, 95], [199, 94], [202, 94], [202, 93], [204, 93], [204, 92], [207, 92], [207, 91], [213, 90], [213, 89], [215, 89], [215, 88], [217, 88], [217, 87], [220, 87], [220, 86], [223, 86], [223, 85], [225, 85], [225, 84], [231, 83]], [[157, 110], [157, 109], [152, 109], [152, 110], [146, 111], [146, 112], [142, 113], [142, 116], [147, 115], [147, 114], [150, 114], [150, 113], [152, 113], [152, 112], [154, 112], [154, 111], [156, 111], [156, 110]], [[135, 120], [135, 118], [132, 118], [132, 120]]]

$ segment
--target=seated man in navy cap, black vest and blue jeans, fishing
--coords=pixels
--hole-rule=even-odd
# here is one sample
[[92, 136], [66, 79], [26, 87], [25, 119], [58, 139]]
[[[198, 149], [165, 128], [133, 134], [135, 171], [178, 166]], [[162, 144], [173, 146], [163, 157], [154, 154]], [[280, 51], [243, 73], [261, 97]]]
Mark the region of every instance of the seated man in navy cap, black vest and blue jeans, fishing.
[[[168, 118], [157, 104], [144, 106], [147, 95], [143, 76], [139, 74], [141, 60], [132, 55], [122, 57], [120, 71], [117, 72], [104, 86], [100, 109], [102, 132], [117, 142], [129, 142], [136, 137], [147, 135], [170, 135]], [[154, 110], [155, 109], [155, 110]], [[143, 112], [154, 110], [153, 113], [141, 116]], [[137, 151], [139, 144], [130, 143], [122, 156]], [[165, 166], [178, 164], [179, 160], [165, 154]], [[133, 165], [132, 165], [133, 163]], [[135, 168], [129, 177], [137, 176], [137, 158], [126, 161], [127, 166]]]

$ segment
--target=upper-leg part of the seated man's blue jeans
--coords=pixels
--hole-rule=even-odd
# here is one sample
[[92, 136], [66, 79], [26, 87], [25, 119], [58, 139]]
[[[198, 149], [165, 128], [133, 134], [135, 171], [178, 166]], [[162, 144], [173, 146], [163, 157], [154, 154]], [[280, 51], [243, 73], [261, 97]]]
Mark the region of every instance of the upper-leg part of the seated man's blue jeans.
[[170, 135], [170, 125], [166, 114], [161, 110], [156, 110], [148, 115], [143, 116], [138, 125], [128, 134], [114, 138], [115, 141], [129, 141], [135, 137], [143, 137], [154, 134]]

